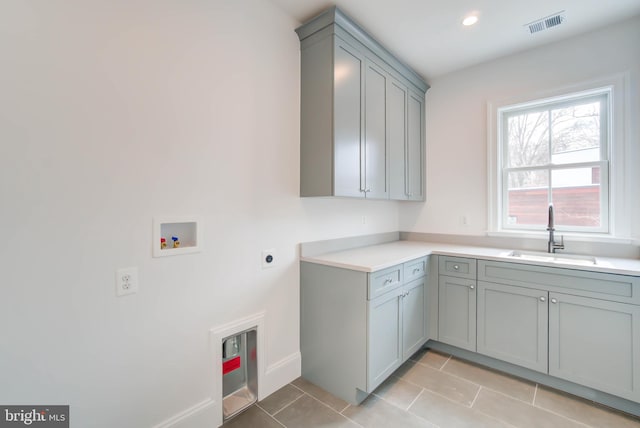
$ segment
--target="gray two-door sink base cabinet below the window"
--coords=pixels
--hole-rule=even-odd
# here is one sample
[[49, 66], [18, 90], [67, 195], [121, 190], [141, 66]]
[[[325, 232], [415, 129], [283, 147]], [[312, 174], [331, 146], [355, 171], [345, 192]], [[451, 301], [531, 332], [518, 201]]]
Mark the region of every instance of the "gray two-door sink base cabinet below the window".
[[477, 315], [478, 353], [640, 402], [639, 277], [479, 260]]

